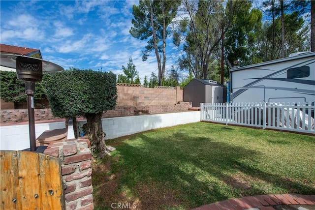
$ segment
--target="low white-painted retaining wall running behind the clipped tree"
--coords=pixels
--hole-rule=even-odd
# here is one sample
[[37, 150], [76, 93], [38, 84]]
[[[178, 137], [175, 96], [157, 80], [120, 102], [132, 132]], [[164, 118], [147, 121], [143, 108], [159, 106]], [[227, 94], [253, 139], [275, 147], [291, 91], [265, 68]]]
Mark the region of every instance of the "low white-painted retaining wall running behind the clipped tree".
[[[142, 115], [102, 119], [106, 139], [114, 139], [156, 128], [170, 127], [200, 121], [200, 111]], [[78, 121], [79, 129], [85, 120]], [[36, 138], [45, 130], [64, 128], [64, 122], [35, 124]], [[24, 150], [30, 148], [29, 125], [0, 126], [0, 150]]]

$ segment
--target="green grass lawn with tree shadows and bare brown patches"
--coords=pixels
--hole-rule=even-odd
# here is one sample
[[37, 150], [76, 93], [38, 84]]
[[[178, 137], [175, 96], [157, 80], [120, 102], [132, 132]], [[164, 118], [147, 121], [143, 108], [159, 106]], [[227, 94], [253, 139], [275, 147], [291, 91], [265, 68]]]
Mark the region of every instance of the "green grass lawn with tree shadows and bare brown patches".
[[197, 122], [106, 144], [117, 150], [93, 165], [98, 210], [118, 203], [186, 210], [249, 195], [315, 194], [314, 136]]

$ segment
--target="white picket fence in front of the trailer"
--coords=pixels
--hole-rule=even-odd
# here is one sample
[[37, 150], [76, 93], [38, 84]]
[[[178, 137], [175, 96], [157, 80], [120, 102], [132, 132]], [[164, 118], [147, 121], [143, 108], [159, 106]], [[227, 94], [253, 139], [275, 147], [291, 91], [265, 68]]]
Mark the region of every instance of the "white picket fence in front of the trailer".
[[201, 121], [315, 134], [312, 103], [201, 103]]

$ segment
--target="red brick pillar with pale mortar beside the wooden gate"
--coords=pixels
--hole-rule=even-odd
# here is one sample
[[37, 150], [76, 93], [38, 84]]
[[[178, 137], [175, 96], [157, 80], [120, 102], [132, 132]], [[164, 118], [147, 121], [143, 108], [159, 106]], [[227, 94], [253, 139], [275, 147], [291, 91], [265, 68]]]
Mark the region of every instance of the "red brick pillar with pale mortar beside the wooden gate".
[[93, 210], [92, 153], [87, 137], [51, 142], [44, 154], [59, 157], [66, 210]]

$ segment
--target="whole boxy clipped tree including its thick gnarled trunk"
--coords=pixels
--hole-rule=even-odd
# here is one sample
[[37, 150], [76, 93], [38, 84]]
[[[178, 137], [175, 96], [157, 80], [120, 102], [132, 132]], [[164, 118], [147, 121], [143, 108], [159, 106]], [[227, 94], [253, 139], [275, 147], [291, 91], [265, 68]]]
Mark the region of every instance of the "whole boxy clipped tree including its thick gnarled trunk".
[[116, 106], [116, 75], [112, 72], [70, 70], [51, 73], [43, 81], [55, 117], [87, 119], [85, 133], [91, 140], [91, 149], [99, 158], [113, 148], [105, 144], [101, 119], [103, 112]]

